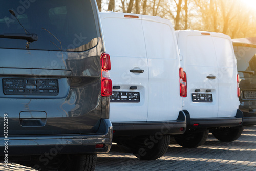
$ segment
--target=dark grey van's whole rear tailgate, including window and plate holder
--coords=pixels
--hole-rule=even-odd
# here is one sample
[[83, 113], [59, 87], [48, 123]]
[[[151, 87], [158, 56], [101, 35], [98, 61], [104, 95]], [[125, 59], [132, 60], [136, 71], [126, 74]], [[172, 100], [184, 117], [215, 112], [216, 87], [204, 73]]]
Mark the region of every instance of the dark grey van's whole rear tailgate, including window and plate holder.
[[[8, 134], [96, 133], [103, 48], [95, 4], [30, 2], [26, 9], [19, 1], [0, 6], [0, 103]], [[38, 39], [23, 39], [29, 33]]]

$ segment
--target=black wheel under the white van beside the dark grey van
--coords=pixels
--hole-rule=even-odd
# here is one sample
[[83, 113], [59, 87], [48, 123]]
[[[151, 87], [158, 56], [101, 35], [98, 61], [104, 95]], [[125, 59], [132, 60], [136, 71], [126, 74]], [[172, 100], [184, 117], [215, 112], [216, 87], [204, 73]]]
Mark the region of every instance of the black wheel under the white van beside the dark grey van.
[[164, 155], [170, 143], [170, 135], [136, 137], [125, 146], [140, 160], [155, 160]]

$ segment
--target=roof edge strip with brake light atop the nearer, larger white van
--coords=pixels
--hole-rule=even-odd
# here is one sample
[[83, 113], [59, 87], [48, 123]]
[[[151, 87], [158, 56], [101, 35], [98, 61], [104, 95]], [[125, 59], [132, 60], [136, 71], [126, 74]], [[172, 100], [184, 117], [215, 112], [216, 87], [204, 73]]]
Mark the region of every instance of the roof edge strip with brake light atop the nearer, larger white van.
[[148, 16], [141, 14], [131, 14], [131, 13], [120, 13], [120, 12], [100, 12], [100, 17], [103, 20], [104, 18], [126, 18], [126, 19], [140, 19], [140, 20], [150, 20], [152, 22], [166, 23], [170, 26], [173, 26], [170, 20], [161, 18], [159, 16]]

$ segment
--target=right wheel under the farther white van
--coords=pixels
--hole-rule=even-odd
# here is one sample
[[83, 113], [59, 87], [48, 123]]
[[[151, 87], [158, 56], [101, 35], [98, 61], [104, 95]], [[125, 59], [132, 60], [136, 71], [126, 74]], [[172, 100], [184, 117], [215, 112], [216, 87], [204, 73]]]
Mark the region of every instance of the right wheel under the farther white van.
[[216, 139], [222, 142], [231, 142], [240, 137], [244, 128], [241, 127], [232, 127], [232, 128], [221, 128], [221, 129], [212, 129], [211, 133]]

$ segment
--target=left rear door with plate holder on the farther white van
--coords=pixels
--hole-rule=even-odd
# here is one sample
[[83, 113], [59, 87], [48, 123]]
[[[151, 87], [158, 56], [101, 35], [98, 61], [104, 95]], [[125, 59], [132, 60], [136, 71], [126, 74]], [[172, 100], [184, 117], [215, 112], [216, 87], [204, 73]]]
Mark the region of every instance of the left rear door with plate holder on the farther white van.
[[217, 117], [219, 79], [216, 79], [218, 66], [212, 37], [198, 31], [180, 31], [178, 47], [183, 57], [181, 67], [189, 71], [184, 109], [193, 118]]

